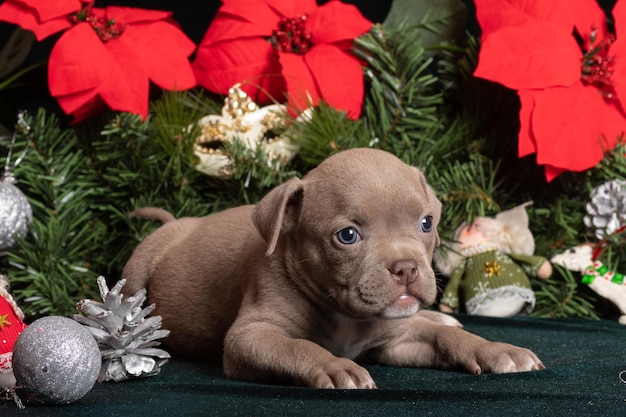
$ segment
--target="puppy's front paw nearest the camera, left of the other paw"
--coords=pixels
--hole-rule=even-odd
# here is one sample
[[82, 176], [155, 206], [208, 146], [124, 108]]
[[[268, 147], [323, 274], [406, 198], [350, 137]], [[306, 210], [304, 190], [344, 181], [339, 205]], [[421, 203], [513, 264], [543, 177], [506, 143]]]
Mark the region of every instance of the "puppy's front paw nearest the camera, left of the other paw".
[[346, 358], [335, 358], [315, 367], [307, 379], [314, 388], [376, 389], [369, 372]]

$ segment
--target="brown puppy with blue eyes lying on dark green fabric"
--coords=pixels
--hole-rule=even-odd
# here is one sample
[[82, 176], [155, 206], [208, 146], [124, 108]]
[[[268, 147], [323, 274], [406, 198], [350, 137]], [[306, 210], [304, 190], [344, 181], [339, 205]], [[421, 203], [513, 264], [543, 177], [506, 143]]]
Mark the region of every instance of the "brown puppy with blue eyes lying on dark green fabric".
[[236, 379], [375, 388], [352, 359], [542, 369], [527, 349], [420, 311], [436, 297], [440, 211], [416, 168], [383, 151], [344, 151], [256, 206], [176, 221], [139, 210], [166, 224], [135, 250], [124, 290], [147, 286], [174, 354], [223, 358]]

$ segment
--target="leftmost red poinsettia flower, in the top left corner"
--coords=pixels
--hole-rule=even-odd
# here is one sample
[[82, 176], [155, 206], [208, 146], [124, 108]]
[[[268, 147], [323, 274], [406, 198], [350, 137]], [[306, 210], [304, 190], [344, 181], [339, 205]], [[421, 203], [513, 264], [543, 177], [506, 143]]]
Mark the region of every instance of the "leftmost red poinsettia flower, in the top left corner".
[[66, 30], [52, 49], [48, 83], [76, 122], [103, 105], [146, 117], [150, 80], [168, 90], [196, 85], [188, 60], [195, 44], [170, 12], [92, 6], [80, 0], [0, 4], [0, 20], [31, 30], [38, 40]]

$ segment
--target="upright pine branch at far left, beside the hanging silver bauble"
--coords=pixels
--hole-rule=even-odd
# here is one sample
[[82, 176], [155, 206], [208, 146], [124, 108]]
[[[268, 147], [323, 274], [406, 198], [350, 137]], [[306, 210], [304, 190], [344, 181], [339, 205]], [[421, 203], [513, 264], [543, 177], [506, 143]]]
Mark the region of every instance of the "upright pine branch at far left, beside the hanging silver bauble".
[[101, 259], [108, 238], [90, 197], [97, 182], [85, 169], [77, 138], [43, 111], [25, 116], [30, 131], [18, 136], [19, 188], [33, 208], [27, 237], [9, 251], [14, 294], [27, 315], [69, 314], [75, 300], [97, 294], [89, 266]]

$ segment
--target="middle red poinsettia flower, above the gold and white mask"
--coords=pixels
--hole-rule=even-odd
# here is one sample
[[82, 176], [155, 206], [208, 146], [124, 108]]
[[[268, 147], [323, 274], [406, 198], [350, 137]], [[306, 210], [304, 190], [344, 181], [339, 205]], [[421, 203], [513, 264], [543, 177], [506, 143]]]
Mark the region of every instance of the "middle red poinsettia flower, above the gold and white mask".
[[336, 0], [223, 0], [192, 66], [216, 93], [242, 83], [258, 103], [288, 93], [292, 109], [323, 99], [358, 118], [363, 73], [350, 48], [371, 26], [355, 6]]

